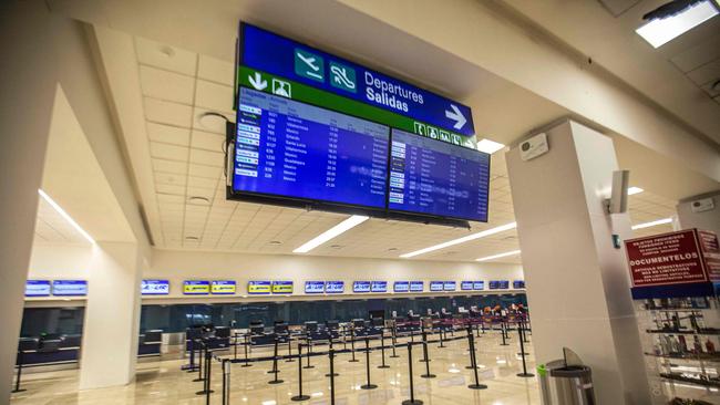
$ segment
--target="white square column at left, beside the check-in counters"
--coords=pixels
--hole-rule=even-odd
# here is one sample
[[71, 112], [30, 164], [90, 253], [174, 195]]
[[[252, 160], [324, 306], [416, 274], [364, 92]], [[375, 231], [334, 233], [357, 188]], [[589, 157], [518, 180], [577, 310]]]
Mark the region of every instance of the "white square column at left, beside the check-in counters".
[[135, 376], [141, 255], [135, 243], [93, 249], [82, 336], [80, 388], [125, 385]]

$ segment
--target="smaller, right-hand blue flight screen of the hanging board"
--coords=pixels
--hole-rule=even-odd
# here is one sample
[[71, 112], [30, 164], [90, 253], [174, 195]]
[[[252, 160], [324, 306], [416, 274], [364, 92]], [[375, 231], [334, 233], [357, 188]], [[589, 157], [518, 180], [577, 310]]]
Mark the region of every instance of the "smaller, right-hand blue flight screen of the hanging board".
[[487, 221], [490, 155], [392, 129], [391, 210]]

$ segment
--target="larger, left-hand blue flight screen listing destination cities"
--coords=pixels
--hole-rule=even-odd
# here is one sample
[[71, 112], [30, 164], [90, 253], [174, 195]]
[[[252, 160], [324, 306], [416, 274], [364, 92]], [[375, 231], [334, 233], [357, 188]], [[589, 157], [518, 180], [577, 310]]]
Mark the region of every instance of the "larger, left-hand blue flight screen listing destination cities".
[[389, 127], [240, 89], [233, 190], [385, 207]]

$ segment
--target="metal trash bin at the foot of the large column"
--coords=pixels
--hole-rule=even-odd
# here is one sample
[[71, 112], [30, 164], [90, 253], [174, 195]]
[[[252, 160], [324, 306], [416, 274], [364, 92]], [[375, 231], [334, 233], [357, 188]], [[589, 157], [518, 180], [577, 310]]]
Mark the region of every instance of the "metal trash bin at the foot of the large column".
[[[569, 350], [564, 349], [564, 351]], [[543, 405], [595, 405], [590, 367], [579, 361], [568, 363], [568, 357], [577, 359], [577, 355], [572, 351], [565, 354], [563, 360], [554, 360], [537, 366], [541, 403]]]

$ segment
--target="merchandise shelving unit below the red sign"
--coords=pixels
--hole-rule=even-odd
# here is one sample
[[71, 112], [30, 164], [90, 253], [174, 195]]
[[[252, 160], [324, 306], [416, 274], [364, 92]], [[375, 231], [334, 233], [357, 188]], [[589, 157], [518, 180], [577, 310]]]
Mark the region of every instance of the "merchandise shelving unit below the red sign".
[[635, 304], [652, 404], [672, 404], [676, 398], [720, 404], [718, 297], [644, 299]]

